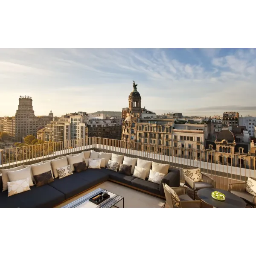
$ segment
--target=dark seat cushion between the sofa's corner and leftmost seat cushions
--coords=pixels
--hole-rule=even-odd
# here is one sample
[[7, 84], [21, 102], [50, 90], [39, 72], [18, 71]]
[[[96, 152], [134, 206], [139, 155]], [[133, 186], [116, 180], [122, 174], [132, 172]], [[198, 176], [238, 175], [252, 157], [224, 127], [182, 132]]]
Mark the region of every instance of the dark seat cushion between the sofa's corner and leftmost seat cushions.
[[55, 178], [54, 182], [49, 183], [49, 186], [52, 186], [62, 192], [65, 195], [65, 199], [78, 195], [91, 187], [90, 181], [81, 179], [81, 177], [79, 177], [79, 173], [73, 173], [72, 175], [62, 179]]

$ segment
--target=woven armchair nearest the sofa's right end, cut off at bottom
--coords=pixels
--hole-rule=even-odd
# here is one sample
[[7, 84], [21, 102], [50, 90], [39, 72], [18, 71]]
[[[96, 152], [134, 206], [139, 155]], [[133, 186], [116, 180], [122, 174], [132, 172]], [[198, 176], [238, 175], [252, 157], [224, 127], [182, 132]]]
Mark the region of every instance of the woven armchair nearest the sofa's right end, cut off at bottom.
[[193, 199], [187, 195], [186, 187], [170, 188], [168, 185], [163, 184], [163, 189], [166, 197], [163, 208], [165, 208], [166, 203], [169, 204], [171, 208], [202, 208], [201, 201], [193, 201]]

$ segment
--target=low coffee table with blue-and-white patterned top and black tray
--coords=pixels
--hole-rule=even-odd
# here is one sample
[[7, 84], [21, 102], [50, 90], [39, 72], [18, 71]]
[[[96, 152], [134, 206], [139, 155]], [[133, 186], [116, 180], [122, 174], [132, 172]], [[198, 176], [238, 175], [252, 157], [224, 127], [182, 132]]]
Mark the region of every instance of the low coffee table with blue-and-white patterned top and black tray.
[[[116, 204], [120, 201], [123, 201], [123, 208], [125, 208], [125, 199], [122, 196], [116, 195], [109, 191], [108, 191], [108, 195], [110, 195], [110, 198], [108, 198], [101, 204], [96, 205], [89, 201], [90, 198], [98, 195], [102, 191], [103, 189], [100, 189], [100, 188], [95, 189], [93, 192], [90, 192], [89, 194], [84, 195], [81, 198], [61, 208], [111, 208], [111, 207], [116, 207]], [[119, 208], [119, 207], [116, 207], [116, 208]]]

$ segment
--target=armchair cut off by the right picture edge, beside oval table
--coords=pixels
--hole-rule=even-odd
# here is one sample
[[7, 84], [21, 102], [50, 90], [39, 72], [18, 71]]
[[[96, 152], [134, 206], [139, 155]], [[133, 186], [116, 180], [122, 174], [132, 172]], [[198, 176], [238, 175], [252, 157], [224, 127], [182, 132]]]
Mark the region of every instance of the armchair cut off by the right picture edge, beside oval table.
[[[252, 177], [251, 179], [256, 180]], [[246, 185], [247, 182], [230, 183], [228, 186], [228, 191], [242, 198], [250, 207], [256, 208], [256, 196], [246, 191]]]

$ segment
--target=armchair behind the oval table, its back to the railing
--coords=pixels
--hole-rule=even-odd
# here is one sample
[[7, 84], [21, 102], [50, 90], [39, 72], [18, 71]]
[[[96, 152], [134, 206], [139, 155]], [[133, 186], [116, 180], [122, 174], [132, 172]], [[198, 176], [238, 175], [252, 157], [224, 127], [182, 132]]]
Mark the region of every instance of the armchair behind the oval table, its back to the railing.
[[[199, 168], [187, 168], [186, 170], [193, 170], [193, 169], [199, 169]], [[195, 182], [191, 177], [186, 175], [186, 172], [183, 172], [183, 173], [184, 173], [184, 180], [185, 180], [184, 186], [187, 186], [189, 187], [189, 189], [193, 190], [194, 200], [195, 200], [196, 192], [198, 192], [199, 189], [208, 189], [208, 188], [215, 189], [215, 180], [210, 178], [209, 176], [200, 172], [202, 175], [202, 179], [201, 181]]]

